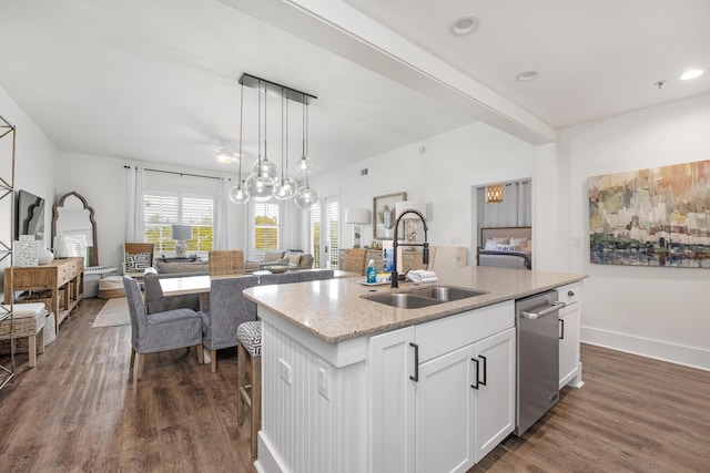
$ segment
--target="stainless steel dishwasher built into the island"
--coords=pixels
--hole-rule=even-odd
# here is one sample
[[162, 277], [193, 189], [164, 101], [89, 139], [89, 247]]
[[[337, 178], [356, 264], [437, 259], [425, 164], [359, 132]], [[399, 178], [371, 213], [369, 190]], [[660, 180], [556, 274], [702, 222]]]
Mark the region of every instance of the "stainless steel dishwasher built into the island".
[[523, 435], [559, 399], [557, 291], [516, 301], [518, 345], [516, 435]]

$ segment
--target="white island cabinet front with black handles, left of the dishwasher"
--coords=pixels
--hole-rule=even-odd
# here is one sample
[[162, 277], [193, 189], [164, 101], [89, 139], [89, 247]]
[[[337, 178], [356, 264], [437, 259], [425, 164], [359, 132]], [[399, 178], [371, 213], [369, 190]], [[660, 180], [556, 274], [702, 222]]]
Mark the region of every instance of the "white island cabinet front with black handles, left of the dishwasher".
[[508, 301], [371, 338], [371, 471], [465, 472], [513, 432], [514, 322]]

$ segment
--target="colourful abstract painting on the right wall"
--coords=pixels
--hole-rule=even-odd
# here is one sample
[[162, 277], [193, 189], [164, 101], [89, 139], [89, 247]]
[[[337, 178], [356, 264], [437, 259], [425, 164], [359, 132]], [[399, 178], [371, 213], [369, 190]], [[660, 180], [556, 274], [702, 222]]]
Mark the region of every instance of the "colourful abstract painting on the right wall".
[[588, 184], [591, 263], [710, 268], [710, 161]]

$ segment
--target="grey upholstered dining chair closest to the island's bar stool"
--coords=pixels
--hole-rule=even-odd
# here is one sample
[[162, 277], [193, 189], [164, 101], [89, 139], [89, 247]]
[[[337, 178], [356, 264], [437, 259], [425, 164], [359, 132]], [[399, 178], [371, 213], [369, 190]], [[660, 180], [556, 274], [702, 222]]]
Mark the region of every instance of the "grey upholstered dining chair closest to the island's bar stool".
[[202, 345], [210, 350], [212, 372], [217, 368], [216, 350], [236, 347], [236, 329], [242, 322], [256, 320], [256, 304], [242, 295], [258, 285], [256, 276], [213, 279], [210, 284], [210, 311], [202, 316]]

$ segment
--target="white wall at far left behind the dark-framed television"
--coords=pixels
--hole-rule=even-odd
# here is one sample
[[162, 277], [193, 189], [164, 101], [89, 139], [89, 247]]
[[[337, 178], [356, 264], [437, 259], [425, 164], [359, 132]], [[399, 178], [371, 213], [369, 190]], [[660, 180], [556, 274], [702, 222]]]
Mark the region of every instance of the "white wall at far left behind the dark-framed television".
[[[34, 124], [32, 119], [10, 97], [4, 89], [0, 86], [0, 115], [16, 126], [16, 169], [14, 188], [24, 189], [44, 198], [44, 235], [43, 247], [50, 247], [51, 216], [54, 196], [54, 158], [57, 148]], [[10, 136], [2, 138], [3, 146], [0, 147], [0, 176], [10, 179], [11, 155], [9, 143], [6, 141]], [[3, 199], [4, 200], [4, 199]], [[6, 200], [7, 202], [7, 200]], [[10, 235], [10, 205], [0, 205], [0, 228], [3, 240], [9, 241]], [[0, 261], [0, 268], [6, 268], [9, 260]], [[2, 274], [0, 273], [0, 280]]]

